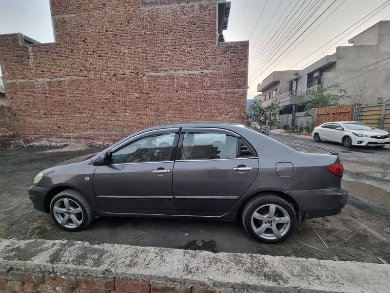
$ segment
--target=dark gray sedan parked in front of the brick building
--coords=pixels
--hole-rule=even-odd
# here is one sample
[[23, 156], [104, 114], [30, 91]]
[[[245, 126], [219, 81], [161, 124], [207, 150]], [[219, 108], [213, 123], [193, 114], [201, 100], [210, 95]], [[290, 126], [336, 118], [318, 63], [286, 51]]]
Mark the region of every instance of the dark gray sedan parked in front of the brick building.
[[297, 221], [341, 211], [342, 175], [337, 155], [300, 152], [243, 125], [176, 123], [43, 170], [29, 195], [70, 231], [104, 216], [238, 218], [275, 243]]

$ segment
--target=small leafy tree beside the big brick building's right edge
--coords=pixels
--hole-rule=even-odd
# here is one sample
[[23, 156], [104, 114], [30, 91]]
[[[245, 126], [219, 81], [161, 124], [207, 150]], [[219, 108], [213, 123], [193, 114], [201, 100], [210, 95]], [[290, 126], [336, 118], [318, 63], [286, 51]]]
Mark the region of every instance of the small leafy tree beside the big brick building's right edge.
[[261, 100], [255, 100], [251, 104], [252, 111], [247, 112], [245, 114], [247, 119], [251, 122], [257, 122], [261, 125], [274, 126], [279, 120], [276, 119], [277, 113], [283, 108], [279, 105], [279, 103], [271, 103], [268, 106], [264, 106]]

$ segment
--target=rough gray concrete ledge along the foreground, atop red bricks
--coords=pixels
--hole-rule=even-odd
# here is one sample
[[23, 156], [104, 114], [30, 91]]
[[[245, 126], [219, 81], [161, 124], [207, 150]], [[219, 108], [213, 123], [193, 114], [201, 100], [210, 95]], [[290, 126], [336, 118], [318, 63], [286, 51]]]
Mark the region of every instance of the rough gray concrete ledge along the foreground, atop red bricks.
[[10, 267], [16, 272], [143, 281], [151, 292], [162, 292], [153, 290], [158, 285], [174, 288], [166, 292], [195, 292], [195, 286], [209, 290], [196, 292], [385, 293], [390, 285], [390, 265], [385, 264], [0, 239], [0, 268], [8, 272]]

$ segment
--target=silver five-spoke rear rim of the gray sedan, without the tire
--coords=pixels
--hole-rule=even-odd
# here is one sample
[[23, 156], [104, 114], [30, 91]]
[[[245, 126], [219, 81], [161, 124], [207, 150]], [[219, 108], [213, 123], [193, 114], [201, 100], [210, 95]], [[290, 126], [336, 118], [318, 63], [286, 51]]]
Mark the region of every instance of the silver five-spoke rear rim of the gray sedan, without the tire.
[[290, 224], [288, 212], [274, 204], [261, 206], [254, 211], [251, 217], [252, 229], [260, 238], [266, 240], [283, 237], [289, 231]]

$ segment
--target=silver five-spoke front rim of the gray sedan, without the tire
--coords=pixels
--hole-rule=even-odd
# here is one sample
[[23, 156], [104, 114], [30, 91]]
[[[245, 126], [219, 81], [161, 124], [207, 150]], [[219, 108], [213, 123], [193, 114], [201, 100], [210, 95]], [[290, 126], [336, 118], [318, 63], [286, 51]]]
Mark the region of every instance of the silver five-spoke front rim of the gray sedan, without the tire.
[[69, 229], [77, 228], [84, 219], [80, 205], [70, 198], [59, 199], [53, 206], [53, 215], [62, 227]]

